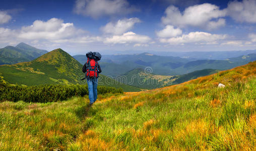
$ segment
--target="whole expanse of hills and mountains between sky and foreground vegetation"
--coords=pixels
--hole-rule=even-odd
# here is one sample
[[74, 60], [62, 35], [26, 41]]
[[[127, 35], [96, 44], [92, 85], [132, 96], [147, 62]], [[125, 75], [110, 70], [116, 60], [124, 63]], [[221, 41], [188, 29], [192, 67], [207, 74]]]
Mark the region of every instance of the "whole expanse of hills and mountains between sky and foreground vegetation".
[[[1, 80], [23, 86], [86, 85], [86, 81], [81, 81], [84, 77], [82, 64], [87, 59], [85, 55], [72, 57], [62, 49], [46, 52], [25, 43], [0, 49], [0, 55], [5, 55], [0, 61], [5, 62], [7, 58], [11, 58], [10, 64], [0, 65]], [[225, 60], [198, 60], [146, 52], [104, 55], [99, 61], [102, 68], [99, 85], [123, 88], [125, 92], [171, 86], [255, 60], [255, 53], [247, 54], [249, 52], [251, 51]], [[10, 62], [12, 59], [15, 61]]]

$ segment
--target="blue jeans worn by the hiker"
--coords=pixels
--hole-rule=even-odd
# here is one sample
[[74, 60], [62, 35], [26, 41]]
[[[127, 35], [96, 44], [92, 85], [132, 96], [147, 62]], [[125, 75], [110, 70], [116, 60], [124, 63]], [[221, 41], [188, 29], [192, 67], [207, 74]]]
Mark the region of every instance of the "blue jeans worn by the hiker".
[[98, 79], [97, 78], [92, 78], [92, 79], [87, 79], [87, 84], [88, 84], [88, 92], [89, 92], [89, 100], [90, 103], [94, 103], [97, 99], [97, 86], [98, 86]]

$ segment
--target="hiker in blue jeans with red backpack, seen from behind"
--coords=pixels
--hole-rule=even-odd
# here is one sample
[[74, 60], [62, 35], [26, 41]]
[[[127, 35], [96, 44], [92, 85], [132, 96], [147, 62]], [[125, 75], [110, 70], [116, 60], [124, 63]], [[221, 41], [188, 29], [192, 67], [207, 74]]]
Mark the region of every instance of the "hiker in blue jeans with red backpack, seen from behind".
[[87, 79], [88, 92], [90, 106], [97, 99], [97, 86], [98, 86], [98, 77], [101, 72], [100, 65], [98, 61], [101, 59], [101, 55], [98, 52], [88, 52], [86, 53], [87, 62], [83, 66], [83, 72], [85, 73], [85, 78]]

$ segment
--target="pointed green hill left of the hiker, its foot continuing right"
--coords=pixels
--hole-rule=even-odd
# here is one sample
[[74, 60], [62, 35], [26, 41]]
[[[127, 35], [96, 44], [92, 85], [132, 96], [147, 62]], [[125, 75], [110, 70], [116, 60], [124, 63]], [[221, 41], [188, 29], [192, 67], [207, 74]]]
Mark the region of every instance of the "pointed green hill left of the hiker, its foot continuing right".
[[[13, 65], [0, 65], [2, 80], [18, 85], [86, 84], [82, 64], [61, 49], [52, 50], [37, 59]], [[100, 75], [99, 85], [123, 88], [124, 91], [140, 91], [139, 88], [117, 83]]]

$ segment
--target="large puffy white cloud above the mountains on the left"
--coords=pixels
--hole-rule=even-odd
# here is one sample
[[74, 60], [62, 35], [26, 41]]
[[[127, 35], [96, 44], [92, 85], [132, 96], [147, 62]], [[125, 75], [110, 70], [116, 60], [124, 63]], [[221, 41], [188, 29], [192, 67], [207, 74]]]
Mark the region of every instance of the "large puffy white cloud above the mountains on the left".
[[36, 40], [61, 40], [76, 37], [85, 31], [76, 29], [73, 23], [63, 23], [63, 20], [52, 18], [46, 22], [36, 20], [31, 26], [22, 27], [19, 38]]

